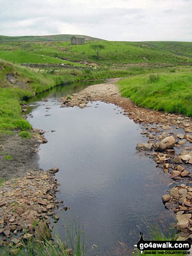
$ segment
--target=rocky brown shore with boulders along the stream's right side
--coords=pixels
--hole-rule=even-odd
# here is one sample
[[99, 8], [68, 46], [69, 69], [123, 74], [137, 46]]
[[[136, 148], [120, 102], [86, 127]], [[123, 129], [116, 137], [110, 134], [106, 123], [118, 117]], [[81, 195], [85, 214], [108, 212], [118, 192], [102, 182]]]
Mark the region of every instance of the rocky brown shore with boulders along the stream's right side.
[[180, 237], [189, 237], [192, 234], [192, 118], [138, 108], [121, 96], [115, 85], [118, 80], [109, 79], [107, 83], [92, 85], [71, 97], [61, 98], [61, 107], [84, 108], [90, 101], [104, 101], [120, 106], [125, 116], [141, 124], [141, 134], [148, 137], [148, 143], [138, 144], [137, 150], [153, 158], [157, 167], [172, 178], [174, 188], [162, 200], [165, 207], [177, 215]]

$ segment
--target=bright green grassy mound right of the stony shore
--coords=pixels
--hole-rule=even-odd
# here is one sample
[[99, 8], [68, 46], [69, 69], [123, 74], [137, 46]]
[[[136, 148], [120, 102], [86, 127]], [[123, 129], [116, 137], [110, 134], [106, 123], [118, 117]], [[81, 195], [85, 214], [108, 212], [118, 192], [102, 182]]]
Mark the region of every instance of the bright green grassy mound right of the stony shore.
[[192, 116], [191, 73], [137, 75], [118, 84], [121, 95], [138, 106]]

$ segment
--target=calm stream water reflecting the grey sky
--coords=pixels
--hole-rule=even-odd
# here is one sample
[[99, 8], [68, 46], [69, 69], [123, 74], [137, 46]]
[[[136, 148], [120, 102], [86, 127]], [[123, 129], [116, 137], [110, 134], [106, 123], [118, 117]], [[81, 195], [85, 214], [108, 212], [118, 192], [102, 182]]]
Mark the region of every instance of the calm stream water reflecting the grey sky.
[[161, 199], [169, 177], [137, 153], [136, 144], [147, 138], [122, 109], [104, 102], [60, 108], [57, 97], [51, 94], [48, 102], [38, 102], [28, 118], [33, 127], [46, 131], [40, 168], [59, 167], [57, 198], [71, 207], [58, 211], [57, 229], [63, 237], [63, 216], [72, 215], [84, 225], [88, 247], [98, 246], [98, 255], [123, 255], [124, 244], [130, 253], [140, 229], [148, 234], [145, 222], [168, 225], [173, 220]]

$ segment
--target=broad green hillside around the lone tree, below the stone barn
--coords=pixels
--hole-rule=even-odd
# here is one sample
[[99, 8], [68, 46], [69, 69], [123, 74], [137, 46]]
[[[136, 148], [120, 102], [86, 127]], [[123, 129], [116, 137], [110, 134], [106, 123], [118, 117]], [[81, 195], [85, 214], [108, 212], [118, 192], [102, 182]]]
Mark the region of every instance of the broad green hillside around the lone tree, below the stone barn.
[[[93, 44], [104, 46], [99, 58], [91, 48]], [[115, 68], [126, 68], [130, 64], [192, 65], [190, 49], [190, 42], [87, 41], [82, 45], [71, 45], [69, 41], [0, 42], [0, 58], [18, 64], [70, 64], [69, 61], [71, 65], [91, 65], [94, 62]]]

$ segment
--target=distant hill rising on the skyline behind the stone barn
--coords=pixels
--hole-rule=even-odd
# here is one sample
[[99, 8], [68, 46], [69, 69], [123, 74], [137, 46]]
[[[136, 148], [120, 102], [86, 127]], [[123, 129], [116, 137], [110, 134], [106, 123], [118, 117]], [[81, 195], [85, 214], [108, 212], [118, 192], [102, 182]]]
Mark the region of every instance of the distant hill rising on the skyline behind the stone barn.
[[85, 38], [86, 41], [102, 41], [99, 38], [92, 38], [84, 35], [58, 34], [48, 36], [21, 36], [9, 37], [0, 35], [0, 42], [38, 42], [38, 41], [71, 41], [72, 36]]

